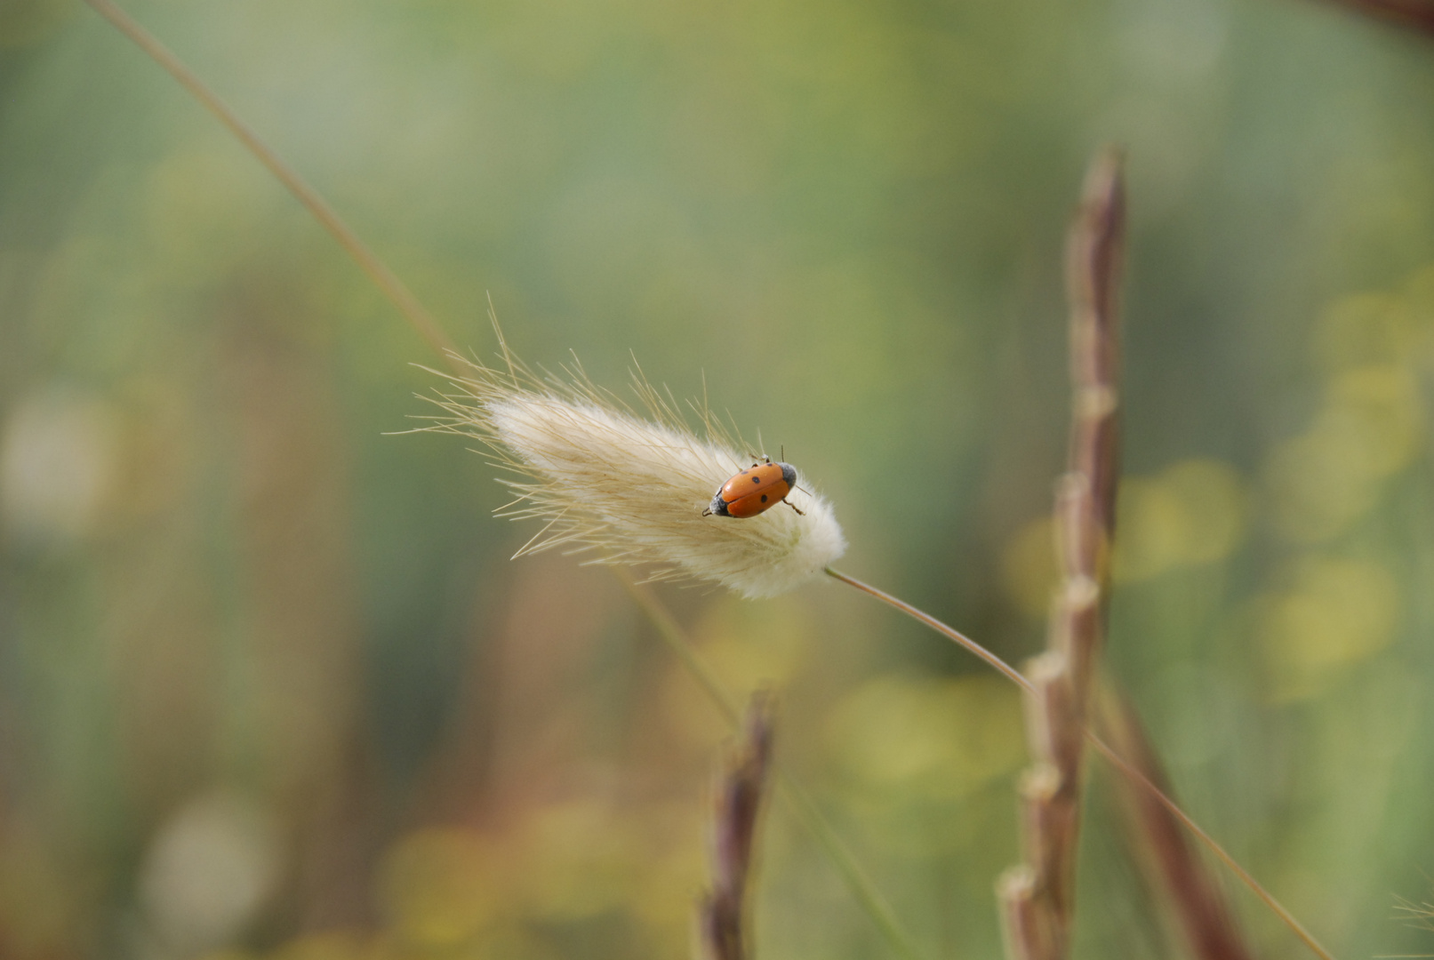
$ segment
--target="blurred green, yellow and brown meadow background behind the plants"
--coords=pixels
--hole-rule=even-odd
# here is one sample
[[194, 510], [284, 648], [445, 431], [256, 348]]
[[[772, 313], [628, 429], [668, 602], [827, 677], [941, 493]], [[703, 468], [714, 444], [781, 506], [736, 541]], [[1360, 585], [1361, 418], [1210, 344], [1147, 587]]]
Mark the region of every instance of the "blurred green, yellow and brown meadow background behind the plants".
[[[1347, 957], [1431, 953], [1434, 43], [1295, 0], [133, 0], [455, 340], [635, 354], [1020, 661], [1063, 232], [1130, 158], [1111, 672]], [[153, 63], [0, 3], [0, 956], [681, 957], [726, 731], [495, 520], [435, 363]], [[923, 956], [992, 957], [1015, 692], [835, 583], [658, 590]], [[1108, 778], [1078, 953], [1167, 957]], [[773, 807], [757, 956], [885, 957]], [[1302, 956], [1233, 890], [1268, 956]]]

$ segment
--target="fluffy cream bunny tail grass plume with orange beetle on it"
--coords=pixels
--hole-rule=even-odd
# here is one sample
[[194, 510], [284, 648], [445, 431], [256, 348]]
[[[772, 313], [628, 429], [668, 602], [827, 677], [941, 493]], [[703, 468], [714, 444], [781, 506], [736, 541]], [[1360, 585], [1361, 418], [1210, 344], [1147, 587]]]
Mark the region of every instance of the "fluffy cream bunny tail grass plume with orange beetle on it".
[[703, 516], [713, 491], [753, 463], [753, 448], [706, 404], [693, 404], [698, 437], [640, 370], [632, 390], [645, 418], [576, 363], [561, 378], [539, 378], [506, 345], [506, 370], [459, 360], [467, 375], [446, 375], [455, 390], [432, 398], [446, 416], [427, 428], [480, 440], [512, 474], [500, 483], [518, 496], [499, 516], [545, 522], [515, 557], [566, 547], [591, 552], [589, 563], [637, 565], [654, 580], [717, 582], [759, 599], [786, 593], [846, 550], [832, 506], [802, 477], [806, 490], [787, 500], [803, 516], [782, 503], [744, 520]]

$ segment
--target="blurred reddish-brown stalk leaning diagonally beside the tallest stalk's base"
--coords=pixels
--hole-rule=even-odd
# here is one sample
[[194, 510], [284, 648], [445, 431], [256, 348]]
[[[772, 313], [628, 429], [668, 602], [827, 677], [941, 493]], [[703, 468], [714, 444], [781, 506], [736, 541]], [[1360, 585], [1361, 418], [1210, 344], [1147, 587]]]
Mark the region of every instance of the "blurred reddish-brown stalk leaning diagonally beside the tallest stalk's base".
[[[1130, 701], [1103, 698], [1100, 719], [1111, 747], [1166, 797], [1173, 797], [1174, 791]], [[1137, 860], [1152, 877], [1152, 885], [1164, 893], [1190, 954], [1197, 960], [1253, 960], [1255, 954], [1245, 943], [1219, 883], [1200, 860], [1180, 821], [1149, 789], [1129, 778], [1117, 778], [1116, 787], [1121, 805], [1130, 814], [1127, 822], [1144, 841], [1136, 845], [1146, 853]]]

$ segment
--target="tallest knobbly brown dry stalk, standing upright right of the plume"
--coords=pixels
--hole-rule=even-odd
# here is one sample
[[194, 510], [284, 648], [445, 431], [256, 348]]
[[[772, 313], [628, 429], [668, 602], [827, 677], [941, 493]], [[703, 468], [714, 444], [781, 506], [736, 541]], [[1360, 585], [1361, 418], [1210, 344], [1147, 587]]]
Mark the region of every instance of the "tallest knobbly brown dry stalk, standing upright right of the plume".
[[1124, 252], [1121, 158], [1091, 163], [1067, 239], [1070, 460], [1055, 494], [1061, 585], [1048, 649], [1028, 671], [1027, 731], [1035, 765], [1021, 782], [1024, 864], [997, 887], [1014, 960], [1070, 951], [1087, 704], [1104, 639], [1120, 481], [1117, 295]]

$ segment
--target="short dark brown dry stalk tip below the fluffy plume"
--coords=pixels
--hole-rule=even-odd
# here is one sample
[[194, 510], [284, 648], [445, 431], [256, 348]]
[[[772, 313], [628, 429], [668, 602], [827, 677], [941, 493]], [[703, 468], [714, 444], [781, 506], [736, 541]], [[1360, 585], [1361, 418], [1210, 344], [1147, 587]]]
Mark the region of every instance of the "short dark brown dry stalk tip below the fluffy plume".
[[713, 888], [697, 907], [698, 960], [746, 960], [747, 880], [771, 761], [771, 698], [757, 692], [717, 779]]

